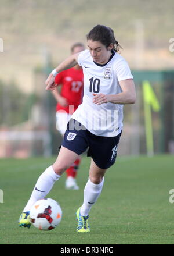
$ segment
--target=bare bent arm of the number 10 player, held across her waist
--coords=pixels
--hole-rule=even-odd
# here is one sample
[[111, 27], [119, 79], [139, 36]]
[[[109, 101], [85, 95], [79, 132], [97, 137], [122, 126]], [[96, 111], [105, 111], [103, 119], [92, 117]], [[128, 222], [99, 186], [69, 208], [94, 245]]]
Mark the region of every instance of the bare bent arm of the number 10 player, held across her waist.
[[100, 105], [103, 103], [115, 103], [115, 104], [134, 104], [136, 101], [136, 91], [133, 79], [126, 79], [119, 81], [119, 85], [122, 89], [118, 94], [93, 94], [93, 103]]

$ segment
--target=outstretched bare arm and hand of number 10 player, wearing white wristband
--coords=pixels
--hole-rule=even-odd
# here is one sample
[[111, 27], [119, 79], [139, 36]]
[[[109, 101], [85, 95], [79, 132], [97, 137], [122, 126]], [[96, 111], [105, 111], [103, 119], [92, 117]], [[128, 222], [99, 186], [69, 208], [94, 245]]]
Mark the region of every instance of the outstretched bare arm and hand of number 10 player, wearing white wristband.
[[[78, 59], [79, 52], [77, 54], [73, 54], [69, 56], [67, 59], [65, 59], [63, 62], [59, 64], [59, 66], [56, 67], [55, 71], [57, 73], [60, 73], [63, 70], [70, 69], [71, 67], [74, 67], [77, 65], [77, 59]], [[53, 76], [52, 73], [49, 74], [48, 79], [46, 79], [46, 90], [55, 90], [55, 87], [57, 87], [57, 84], [55, 84], [55, 76]]]

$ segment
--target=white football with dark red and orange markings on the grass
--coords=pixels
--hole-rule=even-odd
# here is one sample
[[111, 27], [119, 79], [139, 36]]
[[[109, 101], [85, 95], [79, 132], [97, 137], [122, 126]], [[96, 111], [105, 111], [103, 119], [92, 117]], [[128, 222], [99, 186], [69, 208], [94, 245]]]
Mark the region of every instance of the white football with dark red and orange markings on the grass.
[[40, 230], [55, 229], [59, 225], [61, 217], [60, 205], [51, 198], [38, 200], [30, 210], [30, 221]]

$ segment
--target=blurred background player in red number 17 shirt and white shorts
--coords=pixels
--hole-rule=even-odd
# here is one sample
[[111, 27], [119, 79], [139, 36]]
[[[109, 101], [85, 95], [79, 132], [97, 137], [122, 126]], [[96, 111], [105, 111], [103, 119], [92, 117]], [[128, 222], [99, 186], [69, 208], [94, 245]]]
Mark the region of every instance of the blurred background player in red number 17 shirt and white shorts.
[[[72, 45], [71, 54], [84, 51], [84, 49], [84, 45], [81, 42], [77, 42]], [[84, 75], [82, 67], [76, 65], [71, 69], [64, 70], [63, 72], [57, 74], [55, 77], [55, 83], [62, 86], [60, 93], [57, 88], [52, 91], [52, 93], [57, 101], [56, 129], [63, 137], [71, 115], [78, 108], [78, 105], [82, 103], [84, 89]], [[77, 158], [74, 164], [66, 170], [66, 189], [79, 189], [75, 177], [77, 176], [77, 169], [80, 162], [81, 159]]]

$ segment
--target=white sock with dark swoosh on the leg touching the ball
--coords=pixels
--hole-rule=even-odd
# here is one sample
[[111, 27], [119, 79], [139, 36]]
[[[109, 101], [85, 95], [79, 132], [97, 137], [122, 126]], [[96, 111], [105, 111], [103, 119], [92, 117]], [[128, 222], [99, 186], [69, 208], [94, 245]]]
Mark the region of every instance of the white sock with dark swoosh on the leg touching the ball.
[[37, 183], [35, 184], [34, 190], [32, 191], [31, 197], [27, 202], [26, 207], [23, 209], [23, 212], [30, 211], [32, 205], [36, 201], [46, 197], [49, 191], [52, 189], [53, 184], [56, 180], [59, 180], [60, 176], [55, 173], [52, 166], [46, 168], [45, 172], [39, 176]]

